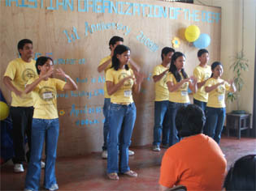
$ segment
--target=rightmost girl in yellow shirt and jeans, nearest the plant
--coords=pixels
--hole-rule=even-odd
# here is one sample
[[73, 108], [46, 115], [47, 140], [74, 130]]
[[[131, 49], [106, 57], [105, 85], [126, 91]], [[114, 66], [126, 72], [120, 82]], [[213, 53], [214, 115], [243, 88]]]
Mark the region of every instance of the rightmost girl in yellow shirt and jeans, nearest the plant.
[[225, 94], [226, 91], [235, 92], [234, 81], [226, 82], [220, 77], [223, 74], [223, 66], [220, 62], [211, 65], [212, 74], [205, 84], [205, 91], [209, 93], [206, 104], [206, 125], [204, 134], [215, 139], [219, 144], [221, 132], [226, 117]]

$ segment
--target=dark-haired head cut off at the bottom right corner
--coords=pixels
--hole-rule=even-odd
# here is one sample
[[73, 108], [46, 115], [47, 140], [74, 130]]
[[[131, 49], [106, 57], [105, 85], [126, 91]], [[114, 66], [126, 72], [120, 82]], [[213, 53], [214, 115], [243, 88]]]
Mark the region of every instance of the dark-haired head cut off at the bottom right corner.
[[237, 159], [224, 180], [226, 190], [256, 190], [256, 155]]

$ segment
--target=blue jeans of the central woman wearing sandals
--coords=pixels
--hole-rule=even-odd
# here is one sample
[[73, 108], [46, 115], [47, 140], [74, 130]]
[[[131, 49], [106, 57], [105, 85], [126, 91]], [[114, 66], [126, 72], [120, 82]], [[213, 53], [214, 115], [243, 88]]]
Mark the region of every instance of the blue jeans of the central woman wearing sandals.
[[[107, 173], [128, 172], [128, 147], [136, 119], [136, 106], [112, 104], [109, 112], [109, 139], [107, 142]], [[119, 169], [120, 167], [120, 169]]]

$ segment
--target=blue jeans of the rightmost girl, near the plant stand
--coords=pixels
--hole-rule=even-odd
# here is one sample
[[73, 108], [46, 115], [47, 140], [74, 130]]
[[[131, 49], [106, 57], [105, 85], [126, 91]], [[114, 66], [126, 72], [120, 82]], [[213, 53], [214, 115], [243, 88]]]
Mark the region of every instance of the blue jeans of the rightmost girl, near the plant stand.
[[203, 133], [215, 139], [219, 144], [226, 117], [226, 108], [206, 107], [206, 125]]

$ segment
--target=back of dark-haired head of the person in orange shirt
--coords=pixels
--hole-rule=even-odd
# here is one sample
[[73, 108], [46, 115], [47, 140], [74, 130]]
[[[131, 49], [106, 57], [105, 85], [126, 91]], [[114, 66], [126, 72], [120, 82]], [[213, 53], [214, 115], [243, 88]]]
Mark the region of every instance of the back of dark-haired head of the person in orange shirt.
[[182, 106], [176, 114], [176, 129], [180, 138], [201, 134], [206, 117], [202, 108], [195, 104]]

